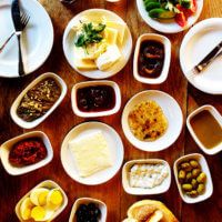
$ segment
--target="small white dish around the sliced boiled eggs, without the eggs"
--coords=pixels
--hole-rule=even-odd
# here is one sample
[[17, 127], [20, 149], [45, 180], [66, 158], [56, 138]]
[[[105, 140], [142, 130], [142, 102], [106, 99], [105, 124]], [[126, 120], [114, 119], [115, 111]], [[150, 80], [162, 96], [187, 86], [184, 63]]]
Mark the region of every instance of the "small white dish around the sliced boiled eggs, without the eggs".
[[54, 219], [65, 209], [65, 206], [67, 206], [67, 204], [68, 204], [68, 198], [67, 198], [67, 194], [64, 193], [64, 191], [63, 191], [63, 190], [61, 189], [61, 186], [60, 186], [59, 184], [57, 184], [54, 181], [46, 180], [46, 181], [42, 181], [41, 183], [39, 183], [38, 185], [36, 185], [32, 190], [30, 190], [30, 191], [17, 203], [14, 210], [16, 210], [16, 214], [17, 214], [17, 216], [18, 216], [18, 219], [19, 219], [20, 221], [23, 221], [22, 218], [21, 218], [21, 215], [20, 215], [20, 206], [21, 206], [21, 203], [22, 203], [22, 201], [23, 201], [26, 198], [28, 198], [28, 196], [31, 194], [31, 192], [32, 192], [34, 189], [37, 189], [37, 188], [59, 189], [59, 190], [61, 191], [62, 195], [63, 195], [63, 203], [62, 203], [62, 205], [61, 205], [58, 210], [56, 210], [56, 212], [52, 214], [52, 216], [50, 218], [50, 220], [48, 220], [48, 222], [54, 220]]

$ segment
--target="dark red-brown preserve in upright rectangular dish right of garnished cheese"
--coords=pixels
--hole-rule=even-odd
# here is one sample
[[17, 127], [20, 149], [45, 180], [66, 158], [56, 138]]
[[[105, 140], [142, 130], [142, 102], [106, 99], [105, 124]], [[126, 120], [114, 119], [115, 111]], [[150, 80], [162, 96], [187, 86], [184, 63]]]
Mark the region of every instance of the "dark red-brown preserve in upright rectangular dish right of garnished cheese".
[[160, 77], [164, 62], [164, 47], [161, 42], [145, 40], [140, 46], [138, 58], [139, 74], [145, 78]]

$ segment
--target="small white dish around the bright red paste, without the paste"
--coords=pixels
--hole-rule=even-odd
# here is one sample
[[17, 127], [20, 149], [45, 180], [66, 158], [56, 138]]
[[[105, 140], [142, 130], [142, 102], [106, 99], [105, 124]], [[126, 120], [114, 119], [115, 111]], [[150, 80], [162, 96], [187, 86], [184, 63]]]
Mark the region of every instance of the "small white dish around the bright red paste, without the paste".
[[[29, 138], [40, 138], [42, 140], [42, 142], [44, 143], [46, 148], [47, 148], [47, 157], [39, 161], [38, 163], [33, 163], [31, 165], [24, 165], [24, 167], [14, 167], [9, 162], [9, 153], [11, 148], [19, 141], [22, 141], [24, 139], [29, 139]], [[6, 169], [6, 171], [11, 174], [11, 175], [21, 175], [31, 171], [34, 171], [39, 168], [44, 167], [46, 164], [48, 164], [52, 158], [53, 158], [53, 150], [50, 143], [49, 138], [47, 137], [46, 133], [41, 132], [41, 131], [33, 131], [33, 132], [28, 132], [21, 135], [18, 135], [16, 138], [12, 138], [11, 140], [8, 140], [7, 142], [4, 142], [1, 147], [0, 147], [0, 158], [1, 158], [1, 162], [3, 168]]]

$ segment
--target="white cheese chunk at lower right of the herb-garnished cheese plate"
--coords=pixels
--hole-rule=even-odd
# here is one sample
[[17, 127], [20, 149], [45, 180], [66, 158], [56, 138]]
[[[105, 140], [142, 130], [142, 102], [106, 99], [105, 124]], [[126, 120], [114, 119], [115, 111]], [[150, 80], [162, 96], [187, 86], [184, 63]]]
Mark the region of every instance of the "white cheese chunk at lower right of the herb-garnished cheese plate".
[[120, 58], [121, 53], [117, 44], [109, 46], [107, 51], [95, 60], [95, 64], [103, 71], [112, 67]]

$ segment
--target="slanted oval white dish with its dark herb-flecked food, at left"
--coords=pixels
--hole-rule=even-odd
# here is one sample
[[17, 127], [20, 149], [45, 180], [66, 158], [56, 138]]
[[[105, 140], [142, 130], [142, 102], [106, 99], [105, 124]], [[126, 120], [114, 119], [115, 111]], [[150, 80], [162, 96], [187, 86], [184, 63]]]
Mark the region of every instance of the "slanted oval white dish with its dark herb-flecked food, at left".
[[43, 73], [14, 100], [10, 110], [11, 118], [21, 128], [36, 128], [56, 110], [65, 94], [67, 84], [59, 75]]

